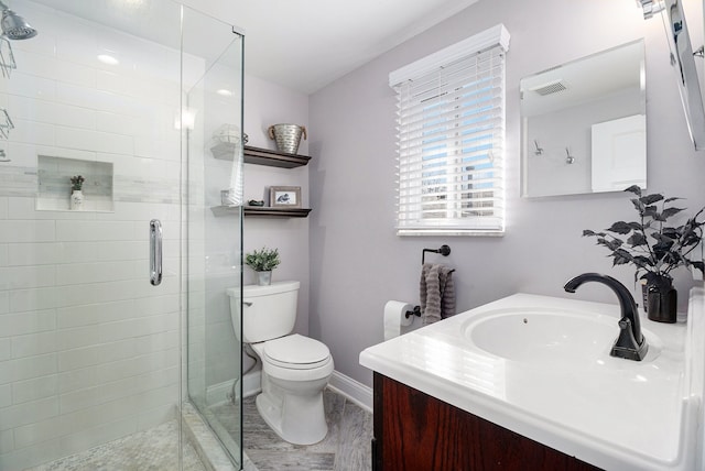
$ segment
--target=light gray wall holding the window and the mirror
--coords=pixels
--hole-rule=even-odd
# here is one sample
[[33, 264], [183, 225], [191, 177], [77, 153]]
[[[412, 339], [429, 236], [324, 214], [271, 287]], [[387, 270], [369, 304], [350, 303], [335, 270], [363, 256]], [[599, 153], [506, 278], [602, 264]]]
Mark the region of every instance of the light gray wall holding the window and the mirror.
[[[507, 59], [507, 233], [503, 238], [400, 238], [394, 233], [395, 68], [503, 23], [511, 33]], [[699, 24], [699, 23], [698, 23]], [[633, 286], [633, 270], [612, 269], [603, 248], [581, 237], [633, 217], [621, 193], [520, 198], [519, 80], [551, 66], [646, 39], [649, 189], [705, 204], [705, 153], [688, 140], [675, 77], [668, 65], [663, 25], [644, 22], [633, 1], [481, 0], [311, 96], [314, 157], [310, 164], [310, 332], [332, 350], [336, 370], [366, 384], [359, 366], [366, 347], [382, 341], [388, 299], [416, 302], [423, 248], [448, 243], [443, 262], [457, 267], [459, 310], [516, 292], [567, 296], [562, 286], [582, 272], [606, 272]], [[691, 211], [688, 211], [691, 212]], [[693, 285], [676, 278], [681, 307]], [[576, 297], [614, 302], [601, 286]]]

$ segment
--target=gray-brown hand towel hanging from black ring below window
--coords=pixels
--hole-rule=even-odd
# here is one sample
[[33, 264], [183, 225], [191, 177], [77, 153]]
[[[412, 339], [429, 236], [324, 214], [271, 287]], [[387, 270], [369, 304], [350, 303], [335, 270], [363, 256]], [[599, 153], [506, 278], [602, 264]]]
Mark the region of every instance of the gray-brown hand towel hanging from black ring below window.
[[455, 315], [455, 270], [441, 264], [424, 263], [421, 269], [420, 298], [422, 325]]

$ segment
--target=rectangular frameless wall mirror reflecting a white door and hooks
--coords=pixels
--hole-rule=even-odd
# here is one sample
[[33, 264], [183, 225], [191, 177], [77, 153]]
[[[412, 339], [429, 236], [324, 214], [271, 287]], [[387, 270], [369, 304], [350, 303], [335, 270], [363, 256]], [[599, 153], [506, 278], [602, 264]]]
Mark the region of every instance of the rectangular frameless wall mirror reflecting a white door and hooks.
[[647, 184], [643, 40], [520, 81], [522, 196]]

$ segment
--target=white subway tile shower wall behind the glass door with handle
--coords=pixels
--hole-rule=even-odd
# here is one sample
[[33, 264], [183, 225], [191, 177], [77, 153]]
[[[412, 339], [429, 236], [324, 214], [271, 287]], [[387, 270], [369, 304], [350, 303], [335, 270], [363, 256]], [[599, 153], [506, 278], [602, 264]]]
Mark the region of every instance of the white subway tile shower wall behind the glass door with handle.
[[[0, 106], [15, 124], [0, 140], [12, 160], [0, 164], [0, 469], [7, 471], [173, 416], [183, 230], [178, 51], [30, 1], [12, 7], [40, 34], [12, 43], [18, 68], [0, 78]], [[104, 50], [120, 64], [97, 62]], [[203, 67], [195, 58], [188, 64]], [[113, 210], [37, 210], [39, 155], [110, 164]], [[67, 199], [69, 193], [66, 182]], [[148, 278], [152, 218], [164, 226], [159, 287]]]

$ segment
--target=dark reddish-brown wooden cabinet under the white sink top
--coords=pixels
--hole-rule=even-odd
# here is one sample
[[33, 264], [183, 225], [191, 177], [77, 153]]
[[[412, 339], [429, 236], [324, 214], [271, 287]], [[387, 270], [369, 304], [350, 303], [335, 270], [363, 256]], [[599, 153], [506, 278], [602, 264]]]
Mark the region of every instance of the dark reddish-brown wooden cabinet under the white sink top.
[[379, 373], [373, 420], [373, 471], [599, 470]]

